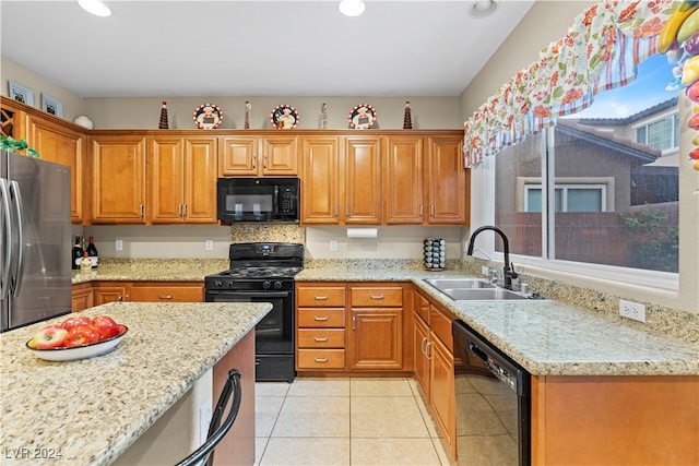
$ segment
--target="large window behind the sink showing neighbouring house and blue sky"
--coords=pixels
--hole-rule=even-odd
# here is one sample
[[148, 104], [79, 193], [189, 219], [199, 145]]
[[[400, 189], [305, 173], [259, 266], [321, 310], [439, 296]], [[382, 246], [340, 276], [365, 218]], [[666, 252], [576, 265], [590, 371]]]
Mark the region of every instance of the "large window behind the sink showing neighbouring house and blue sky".
[[665, 57], [653, 57], [635, 83], [493, 157], [494, 220], [511, 253], [678, 271], [678, 112], [670, 81]]

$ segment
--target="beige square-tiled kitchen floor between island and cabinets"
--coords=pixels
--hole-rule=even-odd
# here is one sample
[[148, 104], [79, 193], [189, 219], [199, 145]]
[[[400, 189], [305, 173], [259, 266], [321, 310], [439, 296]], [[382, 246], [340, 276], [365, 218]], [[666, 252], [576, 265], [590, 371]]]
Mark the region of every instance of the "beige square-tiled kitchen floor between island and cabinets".
[[412, 379], [256, 384], [256, 465], [448, 465]]

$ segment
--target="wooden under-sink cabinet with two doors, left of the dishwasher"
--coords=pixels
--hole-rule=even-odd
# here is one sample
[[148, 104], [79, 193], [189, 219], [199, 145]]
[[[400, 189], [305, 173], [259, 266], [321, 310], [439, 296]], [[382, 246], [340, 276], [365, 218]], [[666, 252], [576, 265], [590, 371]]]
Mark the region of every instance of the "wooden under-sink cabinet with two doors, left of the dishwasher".
[[454, 357], [451, 323], [454, 316], [415, 290], [413, 351], [414, 377], [433, 419], [451, 454], [457, 454]]

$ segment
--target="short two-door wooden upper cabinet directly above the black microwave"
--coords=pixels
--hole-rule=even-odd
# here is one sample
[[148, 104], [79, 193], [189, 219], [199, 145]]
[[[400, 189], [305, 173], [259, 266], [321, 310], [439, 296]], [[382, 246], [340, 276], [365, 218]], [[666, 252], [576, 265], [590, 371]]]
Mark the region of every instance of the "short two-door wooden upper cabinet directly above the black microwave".
[[293, 177], [298, 175], [298, 138], [226, 135], [221, 141], [218, 176]]

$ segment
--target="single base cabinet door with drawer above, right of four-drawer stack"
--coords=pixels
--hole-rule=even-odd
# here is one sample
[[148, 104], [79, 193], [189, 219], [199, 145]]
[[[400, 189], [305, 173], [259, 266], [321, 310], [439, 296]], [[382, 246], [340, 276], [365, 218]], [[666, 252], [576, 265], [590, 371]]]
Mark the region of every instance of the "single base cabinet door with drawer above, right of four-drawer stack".
[[403, 369], [403, 287], [352, 284], [348, 370]]

